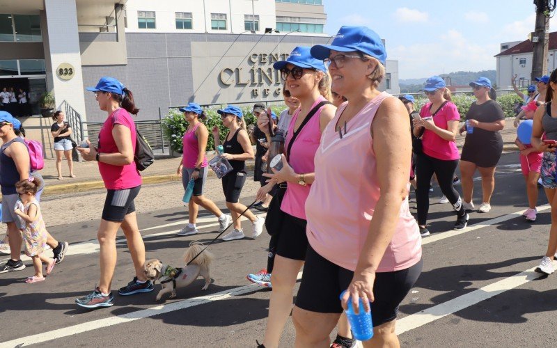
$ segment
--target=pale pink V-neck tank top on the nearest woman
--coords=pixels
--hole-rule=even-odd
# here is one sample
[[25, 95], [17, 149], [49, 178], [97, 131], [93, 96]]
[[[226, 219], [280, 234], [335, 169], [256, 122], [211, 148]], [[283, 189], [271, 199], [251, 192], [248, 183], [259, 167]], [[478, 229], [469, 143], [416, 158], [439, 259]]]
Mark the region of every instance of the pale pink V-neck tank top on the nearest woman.
[[[391, 95], [379, 94], [348, 121], [343, 139], [335, 132], [347, 104], [340, 106], [315, 154], [315, 181], [306, 200], [308, 241], [322, 257], [350, 271], [356, 269], [380, 196], [370, 127], [387, 97]], [[421, 259], [421, 254], [421, 236], [407, 198], [400, 206], [395, 235], [377, 272], [407, 269]]]

